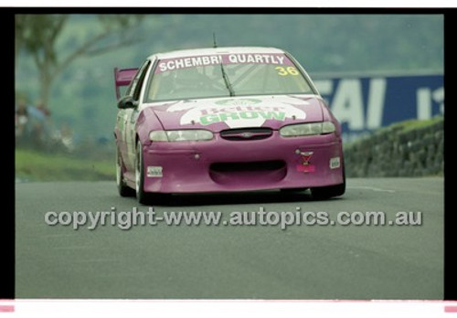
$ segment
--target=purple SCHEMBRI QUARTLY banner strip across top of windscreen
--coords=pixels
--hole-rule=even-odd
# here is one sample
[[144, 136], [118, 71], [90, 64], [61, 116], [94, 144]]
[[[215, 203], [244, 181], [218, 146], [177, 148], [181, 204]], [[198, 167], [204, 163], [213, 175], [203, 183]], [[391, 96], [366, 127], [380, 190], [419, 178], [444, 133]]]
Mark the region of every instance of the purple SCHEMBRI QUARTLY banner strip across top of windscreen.
[[189, 69], [218, 64], [271, 64], [293, 66], [292, 61], [281, 53], [219, 54], [186, 58], [165, 58], [159, 61], [155, 73], [176, 69]]

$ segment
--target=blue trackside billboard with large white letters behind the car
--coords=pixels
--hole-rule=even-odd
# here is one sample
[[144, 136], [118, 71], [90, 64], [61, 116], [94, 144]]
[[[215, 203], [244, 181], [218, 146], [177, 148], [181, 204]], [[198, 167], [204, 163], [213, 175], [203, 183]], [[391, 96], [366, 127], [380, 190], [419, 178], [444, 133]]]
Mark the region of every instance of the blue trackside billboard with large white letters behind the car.
[[343, 76], [314, 85], [341, 123], [345, 141], [393, 122], [444, 114], [442, 74]]

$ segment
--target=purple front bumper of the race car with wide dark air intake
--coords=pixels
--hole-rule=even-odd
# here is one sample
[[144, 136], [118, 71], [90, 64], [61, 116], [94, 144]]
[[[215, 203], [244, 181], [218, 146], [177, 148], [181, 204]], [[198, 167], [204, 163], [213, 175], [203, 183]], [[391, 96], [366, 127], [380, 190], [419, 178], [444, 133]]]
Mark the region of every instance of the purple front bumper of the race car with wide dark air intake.
[[[305, 163], [303, 154], [309, 153]], [[344, 181], [342, 144], [335, 134], [283, 138], [274, 132], [255, 141], [227, 141], [216, 135], [209, 142], [156, 142], [143, 145], [143, 162], [146, 192], [307, 188]]]

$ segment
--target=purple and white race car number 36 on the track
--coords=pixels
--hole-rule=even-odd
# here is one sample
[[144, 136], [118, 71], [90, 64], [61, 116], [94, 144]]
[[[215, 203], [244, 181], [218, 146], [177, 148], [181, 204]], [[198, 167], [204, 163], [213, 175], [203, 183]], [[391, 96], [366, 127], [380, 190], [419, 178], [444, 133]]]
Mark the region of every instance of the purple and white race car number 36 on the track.
[[179, 50], [114, 76], [121, 196], [143, 204], [159, 193], [345, 193], [340, 124], [289, 53]]

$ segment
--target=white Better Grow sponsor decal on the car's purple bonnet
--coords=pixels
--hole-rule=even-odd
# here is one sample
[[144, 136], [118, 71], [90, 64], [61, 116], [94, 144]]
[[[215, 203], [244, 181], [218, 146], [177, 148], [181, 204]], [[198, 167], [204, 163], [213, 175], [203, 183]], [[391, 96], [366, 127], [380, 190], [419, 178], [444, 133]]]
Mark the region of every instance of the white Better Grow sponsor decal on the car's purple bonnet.
[[201, 101], [197, 104], [178, 102], [166, 111], [186, 111], [180, 124], [197, 122], [201, 125], [225, 122], [229, 128], [260, 127], [268, 120], [285, 121], [287, 118], [305, 119], [306, 113], [295, 104], [308, 104], [307, 101], [292, 97], [271, 99], [221, 99]]

